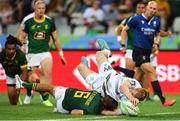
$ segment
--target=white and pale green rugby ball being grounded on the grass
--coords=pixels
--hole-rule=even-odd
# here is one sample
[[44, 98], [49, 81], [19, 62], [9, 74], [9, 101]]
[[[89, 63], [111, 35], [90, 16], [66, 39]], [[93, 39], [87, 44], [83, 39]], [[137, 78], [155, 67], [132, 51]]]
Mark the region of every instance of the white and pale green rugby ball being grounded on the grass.
[[139, 111], [138, 106], [134, 106], [129, 100], [120, 102], [120, 110], [124, 115], [137, 116]]

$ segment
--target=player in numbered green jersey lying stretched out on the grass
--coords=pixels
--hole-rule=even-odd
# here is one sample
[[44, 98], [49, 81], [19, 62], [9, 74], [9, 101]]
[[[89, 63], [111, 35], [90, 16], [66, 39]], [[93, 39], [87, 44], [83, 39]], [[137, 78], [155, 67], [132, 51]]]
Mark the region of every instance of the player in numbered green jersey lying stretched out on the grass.
[[17, 79], [17, 88], [25, 87], [35, 91], [49, 92], [56, 100], [54, 112], [65, 114], [119, 115], [118, 103], [109, 96], [102, 97], [96, 91], [52, 86], [43, 83], [25, 83]]

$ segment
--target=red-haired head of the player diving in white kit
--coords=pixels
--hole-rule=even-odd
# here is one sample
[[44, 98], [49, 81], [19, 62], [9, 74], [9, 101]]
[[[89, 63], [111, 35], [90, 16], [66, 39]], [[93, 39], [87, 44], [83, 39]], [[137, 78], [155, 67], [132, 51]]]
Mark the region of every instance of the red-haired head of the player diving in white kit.
[[143, 101], [148, 96], [145, 88], [130, 88], [130, 92], [132, 96], [139, 99], [139, 101]]

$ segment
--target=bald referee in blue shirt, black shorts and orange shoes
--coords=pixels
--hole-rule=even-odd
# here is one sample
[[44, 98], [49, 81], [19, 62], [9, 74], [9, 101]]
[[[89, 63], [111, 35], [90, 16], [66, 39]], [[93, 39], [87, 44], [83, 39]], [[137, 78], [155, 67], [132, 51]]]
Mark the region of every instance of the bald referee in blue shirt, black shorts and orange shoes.
[[[148, 79], [152, 81], [153, 90], [159, 96], [162, 105], [172, 106], [176, 101], [166, 99], [162, 95], [156, 71], [150, 64], [152, 48], [157, 50], [160, 43], [160, 20], [155, 16], [156, 12], [157, 3], [155, 1], [148, 2], [145, 12], [141, 15], [134, 16], [123, 28], [121, 45], [125, 45], [126, 31], [129, 28], [134, 29], [135, 39], [132, 57], [136, 66], [135, 78], [140, 80], [145, 73]], [[154, 36], [156, 36], [155, 43]], [[122, 50], [125, 52], [125, 46], [122, 47]]]

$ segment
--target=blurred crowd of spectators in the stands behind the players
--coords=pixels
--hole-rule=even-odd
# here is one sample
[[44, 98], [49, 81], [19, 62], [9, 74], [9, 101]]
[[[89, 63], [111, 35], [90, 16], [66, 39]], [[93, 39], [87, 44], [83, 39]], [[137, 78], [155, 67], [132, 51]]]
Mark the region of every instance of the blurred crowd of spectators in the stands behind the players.
[[[82, 33], [85, 32], [84, 34], [107, 34], [124, 18], [135, 13], [135, 6], [139, 1], [45, 0], [46, 14], [57, 21], [59, 30], [69, 29], [65, 34], [77, 33], [77, 28], [80, 28], [78, 30]], [[180, 28], [177, 23], [180, 20], [180, 0], [156, 1], [159, 3], [157, 16], [161, 18], [161, 29], [179, 34]], [[32, 2], [33, 0], [0, 0], [0, 34], [8, 33], [9, 25], [19, 24], [26, 15], [31, 13]]]

